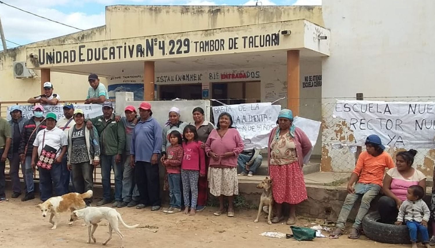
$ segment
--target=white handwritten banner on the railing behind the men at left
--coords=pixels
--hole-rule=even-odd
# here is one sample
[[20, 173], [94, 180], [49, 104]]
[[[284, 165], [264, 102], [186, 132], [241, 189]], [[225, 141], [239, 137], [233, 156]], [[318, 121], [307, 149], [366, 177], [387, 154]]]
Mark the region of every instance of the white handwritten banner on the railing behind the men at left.
[[[7, 120], [11, 119], [9, 114], [10, 107], [7, 107]], [[19, 105], [21, 112], [23, 112], [23, 117], [30, 119], [33, 116], [33, 105]], [[64, 118], [64, 106], [63, 105], [44, 105], [44, 116], [48, 112], [54, 112], [57, 115], [57, 119]], [[82, 109], [85, 118], [94, 118], [101, 116], [103, 111], [101, 110], [101, 104], [74, 104], [74, 109]]]

